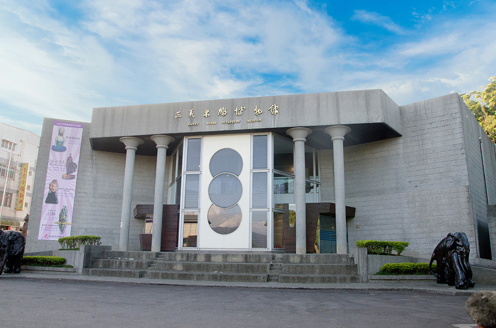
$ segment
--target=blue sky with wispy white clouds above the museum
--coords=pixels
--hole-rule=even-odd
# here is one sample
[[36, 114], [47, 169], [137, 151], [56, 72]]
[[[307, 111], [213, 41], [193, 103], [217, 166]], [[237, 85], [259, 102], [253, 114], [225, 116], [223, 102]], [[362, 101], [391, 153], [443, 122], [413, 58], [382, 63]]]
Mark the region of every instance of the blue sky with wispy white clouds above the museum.
[[398, 105], [496, 75], [496, 1], [0, 0], [0, 121], [95, 107], [383, 89]]

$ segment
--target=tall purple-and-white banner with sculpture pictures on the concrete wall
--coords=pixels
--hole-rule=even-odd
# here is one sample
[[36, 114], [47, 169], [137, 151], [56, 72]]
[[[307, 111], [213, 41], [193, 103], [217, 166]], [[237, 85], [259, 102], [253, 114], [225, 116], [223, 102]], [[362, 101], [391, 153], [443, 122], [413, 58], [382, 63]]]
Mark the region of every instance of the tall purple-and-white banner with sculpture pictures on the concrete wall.
[[54, 121], [38, 240], [70, 236], [83, 124]]

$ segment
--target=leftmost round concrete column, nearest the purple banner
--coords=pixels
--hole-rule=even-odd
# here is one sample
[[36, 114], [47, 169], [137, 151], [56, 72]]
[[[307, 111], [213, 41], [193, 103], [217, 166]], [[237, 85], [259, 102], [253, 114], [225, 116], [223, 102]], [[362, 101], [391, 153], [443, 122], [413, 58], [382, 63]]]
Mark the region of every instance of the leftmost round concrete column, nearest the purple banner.
[[124, 169], [124, 192], [123, 207], [121, 211], [121, 235], [119, 236], [119, 250], [127, 251], [129, 243], [129, 221], [131, 219], [131, 196], [132, 179], [134, 177], [134, 156], [138, 146], [143, 140], [134, 137], [122, 137], [119, 139], [125, 145], [125, 169]]

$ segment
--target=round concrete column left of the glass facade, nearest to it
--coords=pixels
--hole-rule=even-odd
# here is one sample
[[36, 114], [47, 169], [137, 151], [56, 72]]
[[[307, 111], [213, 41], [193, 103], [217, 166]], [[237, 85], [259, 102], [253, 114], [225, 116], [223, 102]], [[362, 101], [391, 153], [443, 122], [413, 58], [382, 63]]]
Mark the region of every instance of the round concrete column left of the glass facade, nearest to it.
[[157, 144], [157, 168], [155, 171], [155, 199], [153, 201], [152, 252], [160, 252], [162, 245], [162, 215], [164, 209], [165, 159], [169, 144], [175, 139], [165, 135], [150, 137]]

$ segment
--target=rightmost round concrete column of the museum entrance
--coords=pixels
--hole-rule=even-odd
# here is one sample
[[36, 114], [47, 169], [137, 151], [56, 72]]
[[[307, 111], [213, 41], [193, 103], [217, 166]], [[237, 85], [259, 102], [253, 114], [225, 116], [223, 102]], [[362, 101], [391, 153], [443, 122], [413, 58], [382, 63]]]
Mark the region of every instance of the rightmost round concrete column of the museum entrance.
[[334, 198], [336, 202], [336, 252], [348, 253], [346, 242], [346, 205], [344, 193], [344, 136], [351, 129], [344, 125], [329, 126], [324, 130], [332, 138], [334, 154]]

